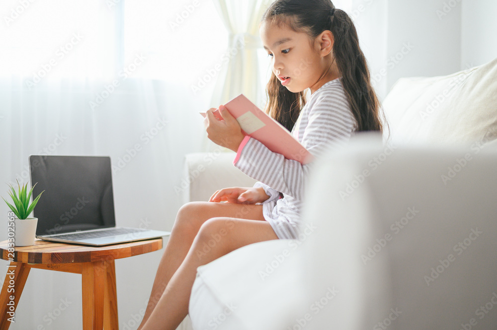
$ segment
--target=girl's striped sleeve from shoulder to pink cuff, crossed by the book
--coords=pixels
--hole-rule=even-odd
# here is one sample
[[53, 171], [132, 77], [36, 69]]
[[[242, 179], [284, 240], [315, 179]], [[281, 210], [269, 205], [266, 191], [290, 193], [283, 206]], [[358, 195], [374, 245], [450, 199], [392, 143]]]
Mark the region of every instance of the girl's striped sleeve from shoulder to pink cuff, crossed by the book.
[[[314, 156], [319, 156], [332, 143], [344, 143], [354, 130], [354, 120], [343, 94], [334, 94], [330, 91], [319, 95], [306, 118], [302, 144]], [[312, 165], [285, 159], [254, 138], [241, 145], [234, 164], [249, 177], [297, 200], [303, 198]]]

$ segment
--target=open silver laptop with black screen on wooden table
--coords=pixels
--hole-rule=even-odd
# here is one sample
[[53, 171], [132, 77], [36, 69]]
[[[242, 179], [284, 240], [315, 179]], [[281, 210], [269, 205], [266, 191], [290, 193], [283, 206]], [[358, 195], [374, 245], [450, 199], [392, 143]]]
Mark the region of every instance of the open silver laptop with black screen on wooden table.
[[116, 227], [109, 156], [30, 155], [36, 237], [102, 246], [170, 235], [149, 228]]

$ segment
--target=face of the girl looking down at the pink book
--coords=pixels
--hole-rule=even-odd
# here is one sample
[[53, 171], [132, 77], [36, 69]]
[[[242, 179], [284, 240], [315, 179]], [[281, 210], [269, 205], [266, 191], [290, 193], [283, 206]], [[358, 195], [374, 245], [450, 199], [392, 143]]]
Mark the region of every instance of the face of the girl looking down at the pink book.
[[259, 33], [274, 75], [289, 91], [298, 93], [310, 88], [314, 93], [326, 82], [322, 78], [329, 62], [320, 54], [321, 45], [313, 47], [306, 33], [267, 21], [261, 24]]

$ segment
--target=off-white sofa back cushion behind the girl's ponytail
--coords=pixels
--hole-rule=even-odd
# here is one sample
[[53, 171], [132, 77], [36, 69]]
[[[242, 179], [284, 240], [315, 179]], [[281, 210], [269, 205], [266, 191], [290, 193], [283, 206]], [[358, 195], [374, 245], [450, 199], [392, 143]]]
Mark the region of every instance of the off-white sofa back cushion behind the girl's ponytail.
[[497, 59], [437, 77], [399, 79], [383, 102], [393, 141], [497, 138]]

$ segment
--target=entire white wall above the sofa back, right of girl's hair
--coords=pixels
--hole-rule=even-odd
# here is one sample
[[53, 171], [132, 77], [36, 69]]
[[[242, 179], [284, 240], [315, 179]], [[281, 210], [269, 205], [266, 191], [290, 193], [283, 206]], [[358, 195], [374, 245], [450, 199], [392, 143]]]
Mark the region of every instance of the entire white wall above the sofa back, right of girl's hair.
[[496, 1], [352, 3], [349, 14], [354, 17], [373, 85], [382, 100], [401, 77], [446, 75], [497, 57]]

